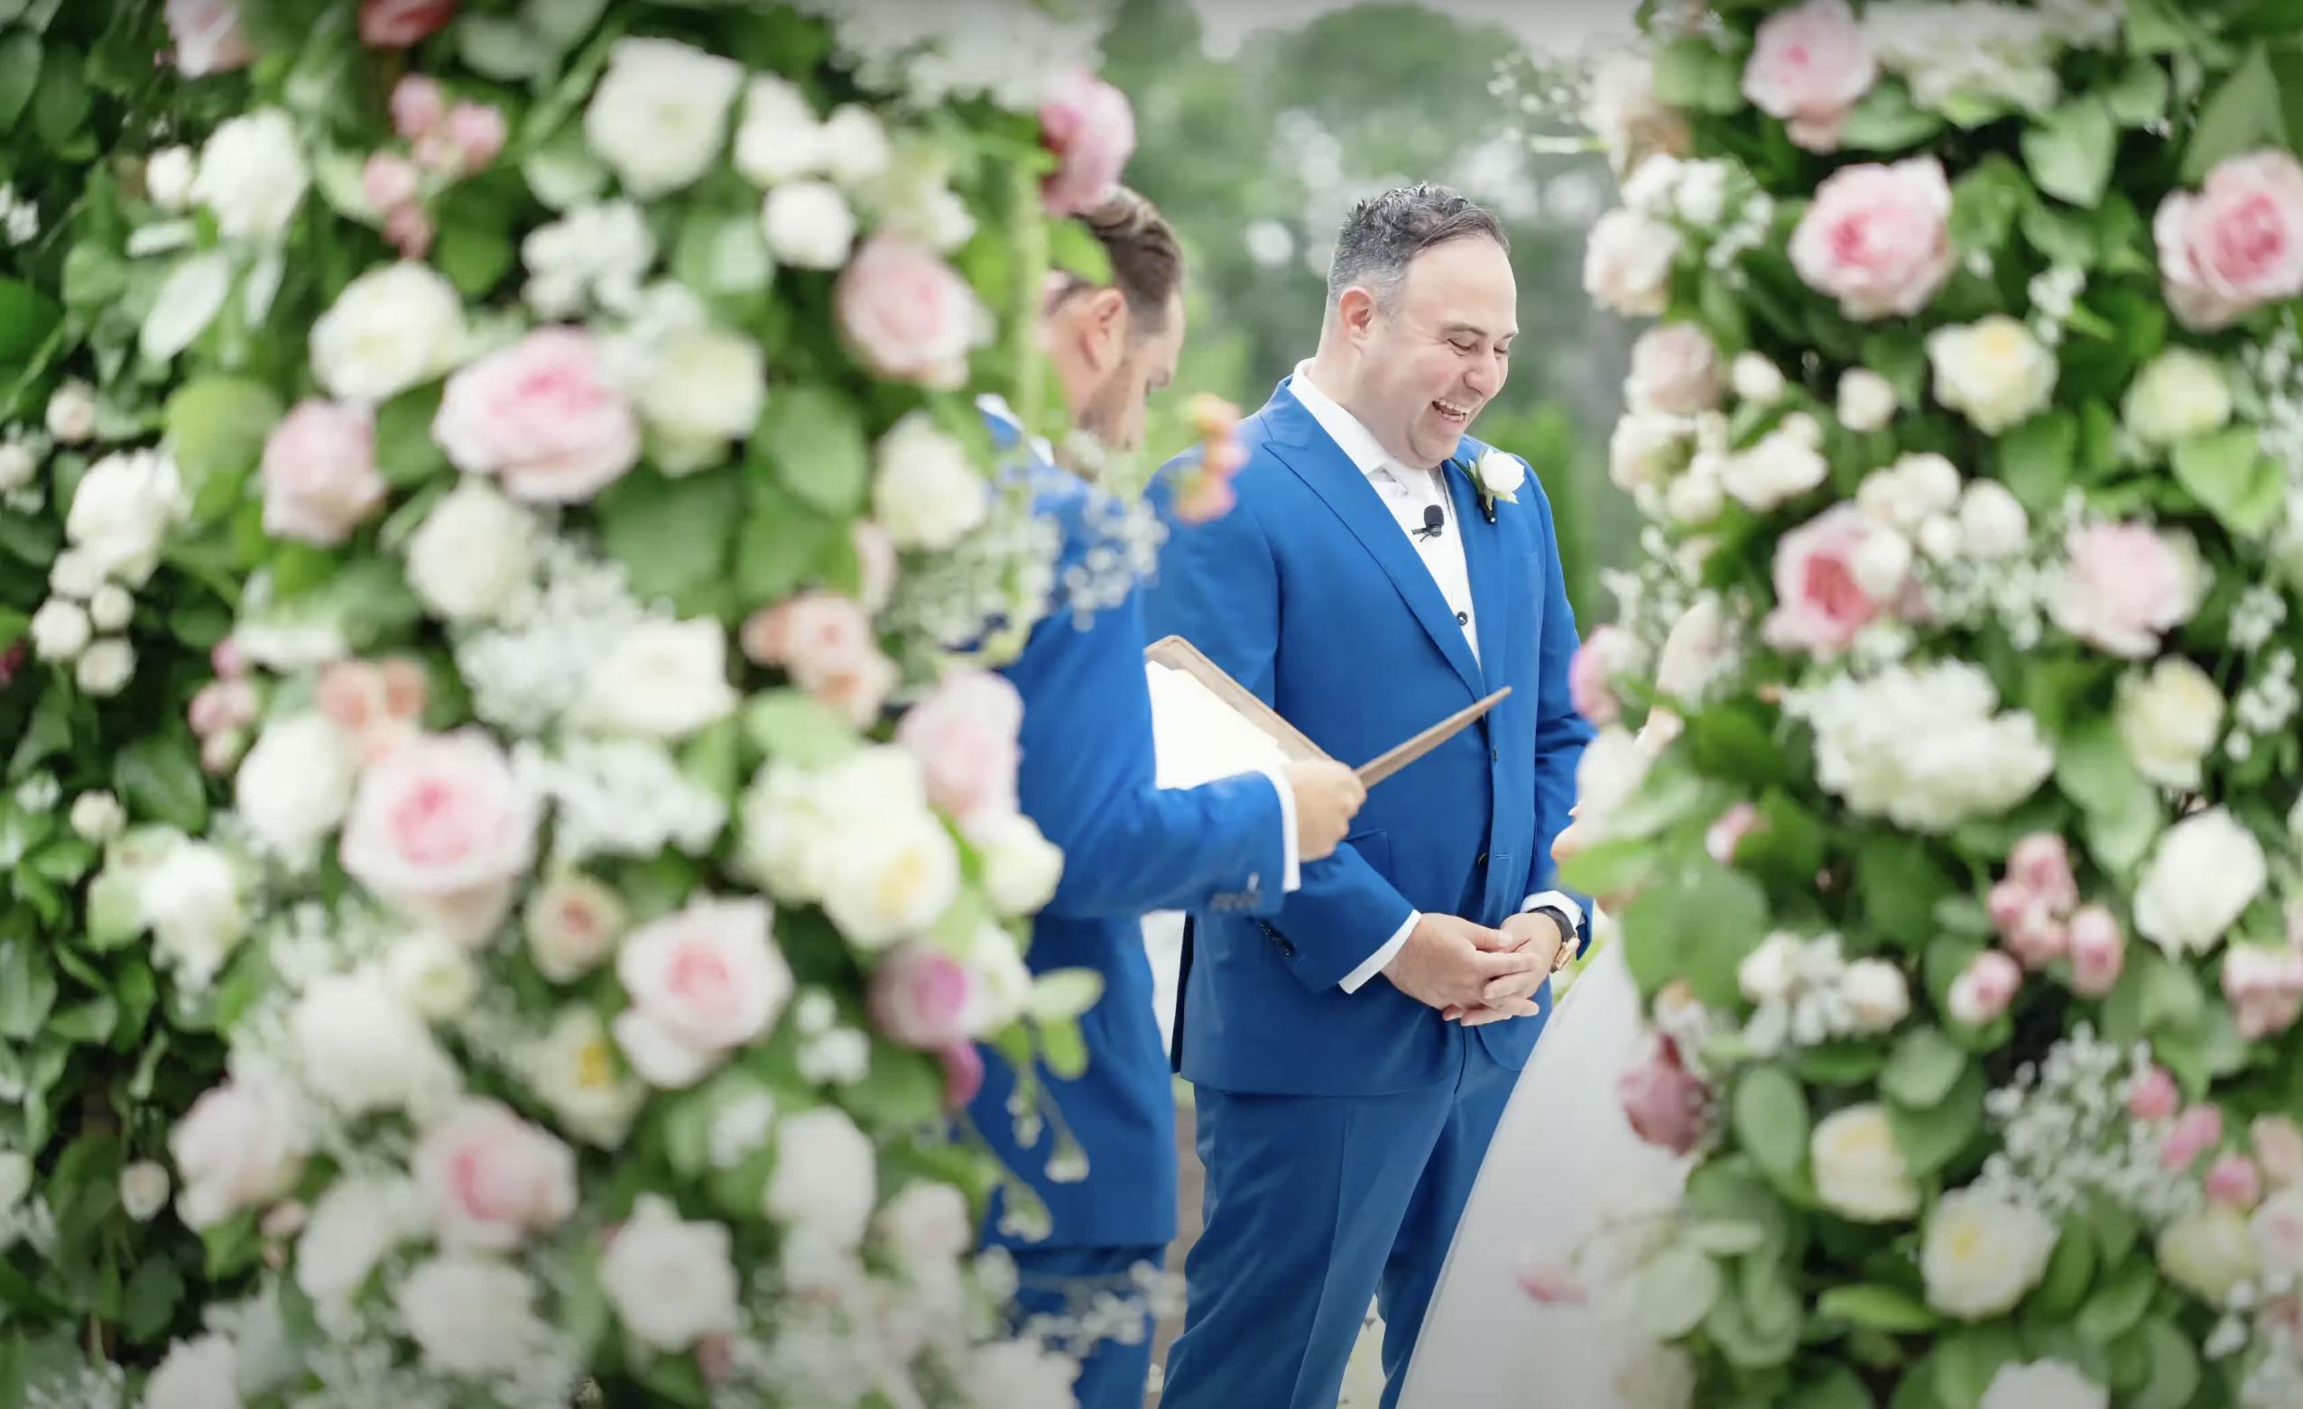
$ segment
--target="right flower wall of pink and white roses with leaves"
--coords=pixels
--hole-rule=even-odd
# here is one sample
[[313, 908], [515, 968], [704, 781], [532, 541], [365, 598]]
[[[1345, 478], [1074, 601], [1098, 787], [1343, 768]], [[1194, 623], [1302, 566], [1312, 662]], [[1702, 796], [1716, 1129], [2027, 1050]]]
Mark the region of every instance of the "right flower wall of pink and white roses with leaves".
[[1626, 1110], [1690, 1158], [1626, 1282], [1649, 1388], [2294, 1404], [2303, 48], [1702, 9], [1610, 69], [1584, 265], [1656, 320], [1571, 866], [1651, 999]]

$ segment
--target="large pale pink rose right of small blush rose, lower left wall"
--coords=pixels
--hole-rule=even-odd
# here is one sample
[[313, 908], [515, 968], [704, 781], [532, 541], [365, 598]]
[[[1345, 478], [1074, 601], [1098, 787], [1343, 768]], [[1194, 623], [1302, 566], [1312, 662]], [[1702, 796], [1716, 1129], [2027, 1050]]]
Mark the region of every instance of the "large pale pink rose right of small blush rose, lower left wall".
[[767, 1036], [792, 997], [765, 900], [691, 900], [633, 930], [615, 958], [631, 1006], [615, 1041], [654, 1087], [693, 1087], [728, 1052]]

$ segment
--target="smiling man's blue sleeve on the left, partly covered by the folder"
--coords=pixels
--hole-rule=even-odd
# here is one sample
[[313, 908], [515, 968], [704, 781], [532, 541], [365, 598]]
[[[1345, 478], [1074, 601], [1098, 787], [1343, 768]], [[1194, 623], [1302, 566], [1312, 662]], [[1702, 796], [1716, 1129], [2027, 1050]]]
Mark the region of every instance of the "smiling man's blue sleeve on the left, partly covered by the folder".
[[[1181, 635], [1257, 700], [1274, 702], [1285, 601], [1253, 504], [1241, 502], [1209, 523], [1177, 525], [1145, 601], [1149, 638]], [[1568, 769], [1573, 774], [1573, 762]], [[1412, 914], [1414, 907], [1347, 840], [1303, 866], [1301, 889], [1287, 896], [1271, 928], [1290, 942], [1283, 953], [1297, 981], [1324, 992], [1389, 944]]]

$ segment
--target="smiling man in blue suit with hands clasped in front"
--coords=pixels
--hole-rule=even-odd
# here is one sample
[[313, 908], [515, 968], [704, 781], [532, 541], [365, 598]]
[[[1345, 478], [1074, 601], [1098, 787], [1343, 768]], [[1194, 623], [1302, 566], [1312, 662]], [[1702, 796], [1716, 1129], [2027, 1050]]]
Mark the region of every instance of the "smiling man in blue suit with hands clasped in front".
[[1276, 916], [1193, 916], [1177, 1045], [1207, 1227], [1163, 1409], [1333, 1409], [1370, 1298], [1398, 1400], [1550, 974], [1584, 942], [1550, 879], [1589, 739], [1552, 513], [1522, 460], [1483, 474], [1497, 451], [1465, 435], [1504, 387], [1515, 297], [1469, 200], [1361, 203], [1317, 357], [1241, 426], [1237, 509], [1179, 530], [1149, 594], [1152, 635], [1193, 640], [1331, 757], [1511, 686], [1375, 790]]

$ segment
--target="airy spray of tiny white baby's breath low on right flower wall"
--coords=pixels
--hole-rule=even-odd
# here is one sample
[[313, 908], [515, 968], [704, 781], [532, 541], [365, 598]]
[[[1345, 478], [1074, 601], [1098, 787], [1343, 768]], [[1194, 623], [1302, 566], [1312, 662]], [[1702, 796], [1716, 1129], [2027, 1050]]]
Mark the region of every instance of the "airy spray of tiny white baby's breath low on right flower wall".
[[2197, 1209], [2197, 1179], [2160, 1163], [2165, 1124], [2128, 1114], [2146, 1073], [2149, 1045], [2116, 1048], [2093, 1027], [2075, 1027], [2043, 1061], [2024, 1064], [2013, 1084], [1983, 1098], [1999, 1149], [1976, 1188], [2057, 1218], [2103, 1197], [2151, 1227]]

